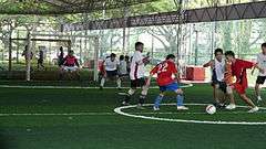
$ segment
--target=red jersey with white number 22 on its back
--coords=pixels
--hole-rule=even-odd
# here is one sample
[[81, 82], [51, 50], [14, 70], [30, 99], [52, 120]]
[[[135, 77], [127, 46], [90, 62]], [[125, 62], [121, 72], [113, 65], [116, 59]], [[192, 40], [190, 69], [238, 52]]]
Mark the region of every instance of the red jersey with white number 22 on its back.
[[175, 66], [175, 63], [171, 61], [164, 61], [160, 64], [157, 64], [150, 74], [157, 74], [157, 84], [158, 86], [165, 86], [168, 85], [174, 81], [172, 77], [173, 74], [176, 74], [177, 70]]

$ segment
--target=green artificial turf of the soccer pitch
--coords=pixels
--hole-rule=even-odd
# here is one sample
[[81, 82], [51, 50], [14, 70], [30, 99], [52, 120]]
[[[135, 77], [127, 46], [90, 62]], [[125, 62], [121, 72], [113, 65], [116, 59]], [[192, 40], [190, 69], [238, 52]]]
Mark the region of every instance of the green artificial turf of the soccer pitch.
[[[125, 92], [125, 89], [124, 89]], [[263, 97], [265, 92], [263, 91]], [[146, 103], [157, 95], [151, 89]], [[209, 85], [185, 88], [186, 103], [212, 103]], [[253, 91], [248, 91], [253, 96]], [[135, 96], [132, 104], [136, 103]], [[173, 103], [167, 94], [164, 103]], [[95, 113], [85, 116], [0, 116], [1, 149], [264, 149], [265, 126], [155, 121], [113, 113], [122, 97], [116, 89], [0, 88], [0, 114]], [[237, 104], [244, 105], [237, 98]], [[260, 106], [266, 106], [265, 103]], [[174, 107], [162, 107], [175, 111]], [[191, 107], [202, 111], [204, 107]], [[239, 109], [245, 111], [246, 109]], [[131, 109], [133, 113], [134, 109]], [[137, 111], [137, 110], [136, 110]], [[146, 111], [151, 111], [146, 109]], [[139, 111], [143, 113], [143, 111]], [[221, 113], [221, 114], [219, 114]], [[194, 116], [197, 119], [265, 120], [264, 114]], [[109, 115], [108, 115], [109, 114]], [[164, 116], [164, 115], [160, 115]], [[185, 115], [181, 115], [185, 116]], [[190, 115], [192, 116], [192, 115]], [[185, 116], [183, 118], [190, 118]], [[176, 118], [176, 115], [165, 117]]]

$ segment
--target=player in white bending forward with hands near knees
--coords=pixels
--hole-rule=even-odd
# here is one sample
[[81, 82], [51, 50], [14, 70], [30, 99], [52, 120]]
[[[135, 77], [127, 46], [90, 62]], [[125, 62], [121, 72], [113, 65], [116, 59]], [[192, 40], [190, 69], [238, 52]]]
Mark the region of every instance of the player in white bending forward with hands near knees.
[[117, 75], [117, 66], [119, 61], [115, 58], [116, 55], [112, 53], [109, 58], [106, 58], [103, 63], [103, 77], [101, 79], [100, 89], [103, 88], [106, 78], [115, 78], [117, 83], [117, 87], [121, 87], [121, 81]]

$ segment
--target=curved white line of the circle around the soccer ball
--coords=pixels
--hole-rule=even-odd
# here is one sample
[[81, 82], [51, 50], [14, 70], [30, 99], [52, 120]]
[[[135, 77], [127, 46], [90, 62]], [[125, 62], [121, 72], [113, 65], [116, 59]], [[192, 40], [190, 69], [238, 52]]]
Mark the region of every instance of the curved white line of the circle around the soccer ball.
[[[153, 104], [145, 104], [144, 106], [152, 106]], [[162, 105], [175, 105], [175, 104], [162, 104]], [[208, 104], [186, 104], [186, 105], [195, 105], [195, 106], [206, 106]], [[160, 120], [160, 121], [173, 121], [173, 123], [193, 123], [193, 124], [219, 124], [219, 125], [266, 125], [266, 121], [263, 123], [250, 123], [250, 121], [211, 121], [211, 120], [187, 120], [187, 119], [173, 119], [173, 118], [160, 118], [160, 117], [153, 117], [153, 116], [142, 116], [142, 115], [134, 115], [134, 114], [127, 114], [122, 111], [122, 109], [127, 109], [127, 108], [135, 108], [136, 105], [131, 105], [131, 106], [123, 106], [123, 107], [117, 107], [114, 109], [116, 114], [127, 116], [127, 117], [134, 117], [134, 118], [142, 118], [142, 119], [150, 119], [150, 120]], [[237, 106], [237, 107], [246, 107], [247, 106]], [[260, 109], [266, 109], [265, 107], [260, 107]], [[252, 115], [252, 114], [247, 114]]]

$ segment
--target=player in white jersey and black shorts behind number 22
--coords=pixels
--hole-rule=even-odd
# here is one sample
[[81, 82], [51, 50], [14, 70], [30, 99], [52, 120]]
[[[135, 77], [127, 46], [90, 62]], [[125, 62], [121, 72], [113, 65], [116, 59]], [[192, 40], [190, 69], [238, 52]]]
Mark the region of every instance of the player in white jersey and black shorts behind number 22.
[[150, 57], [144, 57], [142, 55], [144, 44], [142, 42], [135, 43], [135, 52], [131, 61], [131, 88], [125, 96], [123, 105], [129, 105], [131, 96], [134, 95], [136, 87], [142, 87], [142, 92], [139, 98], [137, 107], [139, 109], [144, 109], [143, 104], [147, 94], [147, 87], [145, 86], [144, 66], [150, 62]]

